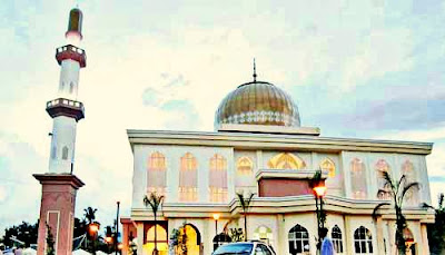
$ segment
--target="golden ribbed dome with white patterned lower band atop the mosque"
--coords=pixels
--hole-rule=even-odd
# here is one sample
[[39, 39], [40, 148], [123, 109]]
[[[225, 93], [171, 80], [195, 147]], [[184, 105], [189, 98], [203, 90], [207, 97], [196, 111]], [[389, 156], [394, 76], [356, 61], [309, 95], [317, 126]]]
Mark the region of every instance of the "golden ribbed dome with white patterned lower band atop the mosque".
[[298, 108], [280, 88], [265, 81], [238, 86], [221, 101], [215, 126], [247, 124], [299, 127]]

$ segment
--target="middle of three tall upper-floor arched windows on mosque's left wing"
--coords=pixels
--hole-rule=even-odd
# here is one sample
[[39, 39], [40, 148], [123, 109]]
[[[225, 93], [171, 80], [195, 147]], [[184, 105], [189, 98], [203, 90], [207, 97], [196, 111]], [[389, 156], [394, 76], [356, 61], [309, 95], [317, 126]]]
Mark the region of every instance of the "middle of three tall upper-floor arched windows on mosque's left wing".
[[198, 200], [198, 163], [190, 153], [184, 155], [180, 159], [179, 169], [179, 200], [197, 202]]

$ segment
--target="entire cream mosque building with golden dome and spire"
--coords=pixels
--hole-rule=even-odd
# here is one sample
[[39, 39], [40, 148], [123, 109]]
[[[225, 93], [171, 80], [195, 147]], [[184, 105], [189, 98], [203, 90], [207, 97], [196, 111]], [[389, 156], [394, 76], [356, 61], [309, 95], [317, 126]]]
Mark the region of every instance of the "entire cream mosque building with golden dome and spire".
[[[434, 215], [419, 203], [431, 202], [425, 157], [433, 145], [323, 137], [319, 128], [301, 127], [293, 98], [257, 80], [255, 71], [253, 81], [222, 99], [215, 131], [127, 133], [132, 206], [121, 223], [123, 245], [137, 254], [152, 253], [155, 227], [159, 254], [170, 254], [175, 229], [187, 233], [187, 254], [211, 254], [218, 236], [244, 227], [237, 193], [255, 194], [246, 217], [248, 239], [264, 241], [280, 255], [316, 254], [309, 179], [319, 169], [327, 187], [326, 227], [337, 254], [396, 254], [394, 210], [383, 207], [377, 219], [372, 217], [388, 199], [377, 196], [384, 171], [422, 184], [405, 200], [405, 237], [411, 254], [429, 254], [426, 224]], [[150, 193], [165, 196], [157, 226], [142, 203]]]

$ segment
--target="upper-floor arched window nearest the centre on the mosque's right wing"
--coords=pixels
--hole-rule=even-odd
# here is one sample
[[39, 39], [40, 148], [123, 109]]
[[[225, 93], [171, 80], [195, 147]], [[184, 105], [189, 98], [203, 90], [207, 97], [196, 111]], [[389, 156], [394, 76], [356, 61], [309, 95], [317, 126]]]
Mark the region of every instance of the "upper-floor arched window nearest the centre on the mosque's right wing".
[[350, 161], [350, 182], [353, 198], [366, 198], [366, 169], [365, 164], [358, 158]]

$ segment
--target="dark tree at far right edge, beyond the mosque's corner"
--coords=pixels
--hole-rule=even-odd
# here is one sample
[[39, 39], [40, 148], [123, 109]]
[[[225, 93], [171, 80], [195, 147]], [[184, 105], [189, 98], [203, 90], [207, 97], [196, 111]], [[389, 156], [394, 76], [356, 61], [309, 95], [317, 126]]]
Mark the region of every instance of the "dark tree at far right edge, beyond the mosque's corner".
[[424, 208], [432, 208], [436, 213], [434, 224], [428, 224], [428, 244], [432, 254], [443, 254], [445, 251], [445, 200], [444, 194], [438, 195], [437, 208], [423, 204]]

